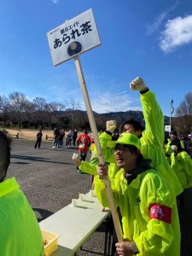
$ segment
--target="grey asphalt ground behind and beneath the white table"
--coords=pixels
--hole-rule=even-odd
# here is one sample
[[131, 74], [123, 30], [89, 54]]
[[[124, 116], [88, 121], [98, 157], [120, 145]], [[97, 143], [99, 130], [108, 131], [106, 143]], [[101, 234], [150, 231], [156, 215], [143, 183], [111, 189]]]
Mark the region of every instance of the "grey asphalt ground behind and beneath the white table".
[[[51, 142], [35, 149], [34, 143], [14, 140], [8, 177], [15, 176], [26, 194], [38, 221], [67, 206], [79, 193], [90, 190], [90, 176], [79, 174], [72, 163], [77, 148], [52, 148]], [[182, 230], [181, 256], [192, 255], [192, 190], [186, 195]], [[104, 227], [101, 227], [79, 250], [80, 256], [103, 255]]]

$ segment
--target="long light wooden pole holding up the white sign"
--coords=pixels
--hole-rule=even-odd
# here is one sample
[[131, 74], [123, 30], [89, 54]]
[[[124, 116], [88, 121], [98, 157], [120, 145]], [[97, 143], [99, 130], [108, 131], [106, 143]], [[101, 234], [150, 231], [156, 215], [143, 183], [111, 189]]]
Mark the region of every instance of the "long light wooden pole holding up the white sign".
[[[87, 114], [88, 114], [88, 118], [89, 118], [89, 121], [90, 121], [90, 129], [93, 133], [94, 141], [96, 143], [96, 151], [97, 151], [97, 154], [98, 154], [98, 159], [99, 159], [101, 164], [104, 164], [105, 161], [104, 161], [103, 156], [102, 156], [102, 148], [101, 148], [101, 145], [100, 145], [100, 142], [99, 142], [99, 137], [98, 137], [97, 130], [96, 130], [96, 121], [94, 119], [93, 111], [92, 111], [92, 108], [91, 108], [91, 105], [90, 105], [90, 98], [89, 98], [88, 91], [87, 91], [87, 88], [86, 88], [86, 84], [85, 84], [85, 80], [84, 80], [84, 74], [83, 74], [81, 64], [80, 64], [80, 60], [79, 60], [79, 55], [74, 57], [74, 61], [75, 61], [75, 66], [76, 66], [78, 77], [79, 77], [79, 83], [80, 83], [80, 86], [81, 86], [81, 90], [82, 90], [83, 96], [84, 96], [85, 107], [87, 109]], [[117, 238], [118, 238], [118, 241], [123, 241], [123, 233], [122, 233], [122, 229], [121, 229], [120, 222], [119, 222], [119, 216], [118, 216], [117, 208], [115, 207], [114, 202], [113, 202], [114, 201], [113, 200], [113, 193], [112, 193], [112, 190], [111, 190], [111, 187], [110, 187], [110, 182], [109, 182], [108, 177], [104, 178], [104, 183], [105, 183], [105, 186], [106, 186], [108, 202], [109, 202], [110, 210], [111, 210], [111, 213], [112, 213], [113, 224], [114, 224], [114, 228], [115, 228], [115, 231], [116, 231], [116, 234], [117, 234]]]

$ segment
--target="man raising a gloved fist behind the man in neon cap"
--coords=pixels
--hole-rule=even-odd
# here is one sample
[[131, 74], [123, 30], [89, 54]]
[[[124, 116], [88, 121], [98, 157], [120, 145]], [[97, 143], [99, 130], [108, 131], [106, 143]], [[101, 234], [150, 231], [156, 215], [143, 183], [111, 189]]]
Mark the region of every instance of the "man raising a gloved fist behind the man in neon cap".
[[[158, 102], [156, 102], [154, 93], [148, 89], [146, 84], [144, 84], [143, 79], [134, 79], [131, 81], [130, 87], [131, 90], [138, 90], [140, 92], [146, 125], [144, 129], [143, 125], [137, 122], [137, 120], [131, 119], [123, 125], [123, 132], [134, 134], [140, 138], [143, 157], [152, 160], [151, 166], [166, 178], [166, 182], [169, 184], [170, 189], [172, 189], [172, 192], [177, 196], [183, 192], [183, 188], [176, 173], [173, 172], [166, 160], [164, 153], [164, 117], [160, 106]], [[108, 134], [106, 136], [108, 136], [108, 140], [112, 139]], [[113, 150], [106, 147], [105, 151], [105, 160], [109, 163], [113, 163]], [[82, 162], [82, 170], [85, 168], [86, 170], [89, 170], [88, 165], [88, 163], [84, 164], [84, 162]], [[92, 168], [94, 167], [92, 166]]]

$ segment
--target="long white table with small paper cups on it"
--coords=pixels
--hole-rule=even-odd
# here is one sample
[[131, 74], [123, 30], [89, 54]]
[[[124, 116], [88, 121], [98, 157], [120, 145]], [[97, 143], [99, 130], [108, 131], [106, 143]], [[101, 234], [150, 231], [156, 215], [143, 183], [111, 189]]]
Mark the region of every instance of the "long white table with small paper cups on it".
[[88, 193], [84, 201], [77, 200], [77, 207], [70, 204], [41, 221], [41, 229], [60, 236], [58, 250], [51, 256], [74, 255], [109, 215], [109, 210], [102, 212], [96, 196]]

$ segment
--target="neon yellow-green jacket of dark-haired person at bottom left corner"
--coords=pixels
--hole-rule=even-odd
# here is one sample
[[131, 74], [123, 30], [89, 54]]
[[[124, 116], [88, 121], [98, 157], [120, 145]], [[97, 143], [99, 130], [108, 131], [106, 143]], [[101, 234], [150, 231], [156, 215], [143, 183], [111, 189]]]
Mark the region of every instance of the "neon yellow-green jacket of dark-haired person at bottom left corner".
[[37, 218], [15, 177], [0, 183], [0, 255], [43, 256]]

